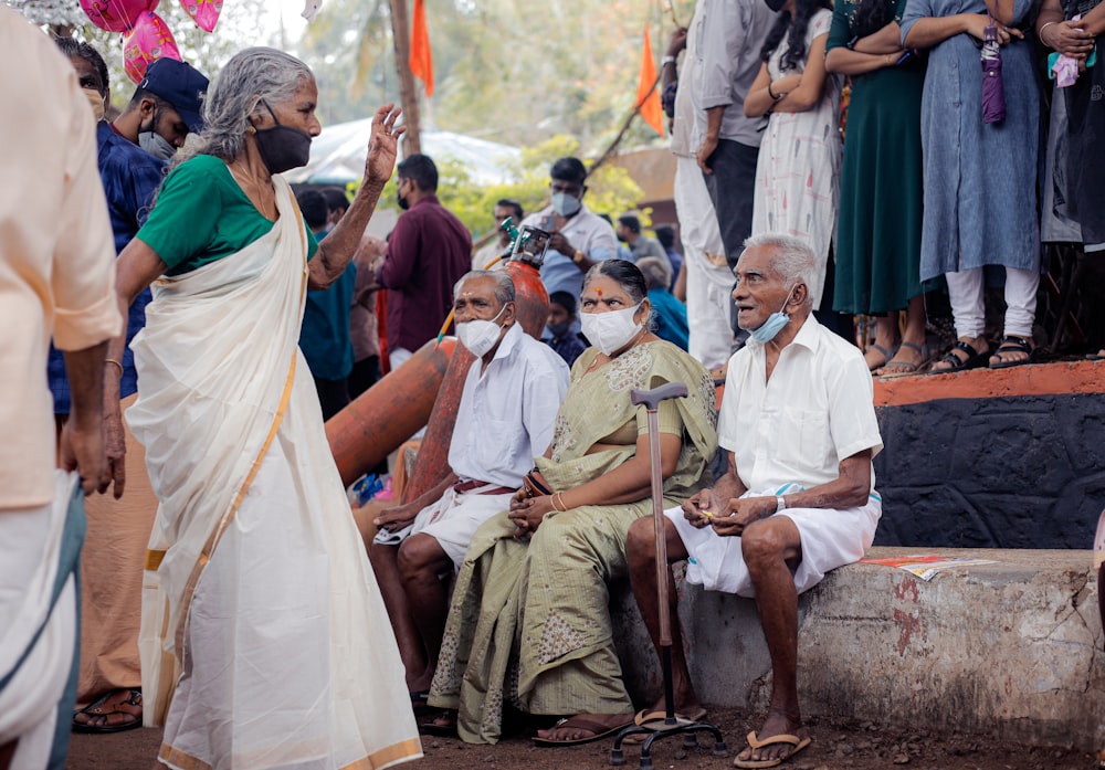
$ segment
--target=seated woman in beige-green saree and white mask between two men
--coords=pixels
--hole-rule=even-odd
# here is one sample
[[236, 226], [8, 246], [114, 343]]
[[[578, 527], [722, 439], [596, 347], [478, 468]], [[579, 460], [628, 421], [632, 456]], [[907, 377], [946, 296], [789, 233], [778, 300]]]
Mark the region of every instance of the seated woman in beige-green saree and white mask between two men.
[[[456, 711], [461, 738], [494, 743], [504, 705], [570, 715], [538, 740], [593, 740], [629, 724], [633, 705], [614, 652], [608, 589], [628, 574], [625, 534], [652, 510], [648, 420], [630, 391], [685, 382], [660, 409], [664, 504], [709, 478], [717, 444], [706, 370], [648, 331], [644, 277], [622, 260], [590, 270], [583, 334], [596, 346], [571, 370], [552, 445], [537, 458], [551, 494], [519, 491], [469, 547], [453, 592], [429, 703]], [[446, 713], [434, 722], [444, 727]]]

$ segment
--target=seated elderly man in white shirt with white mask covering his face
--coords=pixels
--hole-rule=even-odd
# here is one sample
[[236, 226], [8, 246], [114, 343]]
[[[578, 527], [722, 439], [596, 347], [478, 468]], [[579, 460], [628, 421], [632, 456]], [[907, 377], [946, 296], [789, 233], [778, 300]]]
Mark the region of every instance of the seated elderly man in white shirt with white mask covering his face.
[[[472, 534], [511, 507], [511, 495], [545, 453], [568, 390], [568, 367], [515, 318], [514, 282], [473, 271], [453, 289], [456, 336], [469, 369], [449, 446], [451, 472], [414, 500], [373, 521], [372, 567], [415, 707], [424, 706], [449, 610], [449, 580]], [[444, 576], [444, 579], [443, 579]]]

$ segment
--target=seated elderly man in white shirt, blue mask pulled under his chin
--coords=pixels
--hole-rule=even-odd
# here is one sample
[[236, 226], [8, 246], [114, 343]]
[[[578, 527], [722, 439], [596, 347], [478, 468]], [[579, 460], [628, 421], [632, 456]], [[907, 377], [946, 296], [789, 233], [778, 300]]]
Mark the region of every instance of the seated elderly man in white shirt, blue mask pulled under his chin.
[[[729, 359], [718, 418], [728, 471], [713, 488], [665, 511], [670, 561], [687, 580], [755, 597], [771, 655], [771, 703], [734, 764], [771, 767], [810, 743], [798, 702], [798, 594], [871, 546], [882, 503], [871, 460], [882, 450], [871, 375], [860, 350], [811, 315], [813, 253], [801, 240], [745, 242], [734, 271], [738, 321], [751, 333]], [[653, 524], [633, 525], [630, 576], [659, 650]], [[673, 624], [675, 708], [701, 718], [682, 635]], [[661, 704], [657, 708], [663, 708]]]

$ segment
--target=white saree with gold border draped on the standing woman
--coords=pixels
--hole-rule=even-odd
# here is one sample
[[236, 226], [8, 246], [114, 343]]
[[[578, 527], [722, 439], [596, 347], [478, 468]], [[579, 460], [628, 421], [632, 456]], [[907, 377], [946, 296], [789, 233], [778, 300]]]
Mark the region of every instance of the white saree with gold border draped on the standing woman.
[[306, 239], [280, 219], [154, 285], [135, 339], [159, 507], [140, 651], [171, 768], [371, 770], [421, 756], [403, 667], [297, 347]]

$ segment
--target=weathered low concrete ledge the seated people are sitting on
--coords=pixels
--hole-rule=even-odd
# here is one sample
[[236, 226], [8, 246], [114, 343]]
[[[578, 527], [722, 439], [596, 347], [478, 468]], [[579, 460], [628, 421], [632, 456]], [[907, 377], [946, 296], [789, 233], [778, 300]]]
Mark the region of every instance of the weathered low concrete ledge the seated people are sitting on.
[[[1105, 652], [1092, 551], [873, 548], [998, 563], [941, 572], [851, 565], [799, 602], [799, 688], [809, 715], [962, 728], [1042, 746], [1105, 746]], [[612, 592], [631, 695], [661, 692], [628, 587]], [[705, 703], [766, 709], [770, 664], [754, 603], [681, 584]]]

